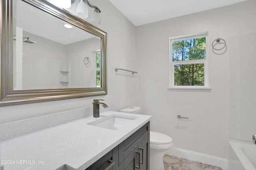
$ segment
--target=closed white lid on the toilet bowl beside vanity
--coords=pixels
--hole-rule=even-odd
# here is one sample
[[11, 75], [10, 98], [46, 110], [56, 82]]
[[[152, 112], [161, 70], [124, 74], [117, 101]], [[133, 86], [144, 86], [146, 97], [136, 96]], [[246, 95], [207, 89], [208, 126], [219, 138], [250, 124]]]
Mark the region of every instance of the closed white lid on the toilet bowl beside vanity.
[[164, 145], [172, 143], [172, 138], [162, 133], [150, 131], [150, 143]]

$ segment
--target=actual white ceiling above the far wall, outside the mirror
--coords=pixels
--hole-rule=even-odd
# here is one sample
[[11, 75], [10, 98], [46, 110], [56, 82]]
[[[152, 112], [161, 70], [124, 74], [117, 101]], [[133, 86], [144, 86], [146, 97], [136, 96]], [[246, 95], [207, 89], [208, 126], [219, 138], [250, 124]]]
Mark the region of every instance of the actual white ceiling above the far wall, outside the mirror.
[[245, 0], [110, 0], [135, 26], [242, 1]]

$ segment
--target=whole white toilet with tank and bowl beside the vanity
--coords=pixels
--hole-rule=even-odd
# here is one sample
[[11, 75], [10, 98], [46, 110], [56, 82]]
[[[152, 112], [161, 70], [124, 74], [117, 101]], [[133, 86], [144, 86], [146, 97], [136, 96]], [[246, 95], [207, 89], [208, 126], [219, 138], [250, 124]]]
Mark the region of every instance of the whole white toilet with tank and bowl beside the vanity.
[[[140, 107], [127, 107], [120, 112], [140, 114]], [[164, 170], [163, 156], [171, 147], [173, 147], [171, 137], [150, 131], [150, 170]]]

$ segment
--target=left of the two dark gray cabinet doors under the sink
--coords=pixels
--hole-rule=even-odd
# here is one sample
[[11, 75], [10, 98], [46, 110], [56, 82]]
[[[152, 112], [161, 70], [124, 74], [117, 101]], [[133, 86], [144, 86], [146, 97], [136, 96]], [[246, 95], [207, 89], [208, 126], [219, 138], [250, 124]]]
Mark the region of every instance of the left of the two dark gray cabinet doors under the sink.
[[124, 170], [140, 170], [140, 152], [138, 147], [124, 159]]

